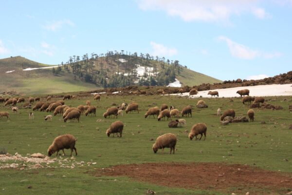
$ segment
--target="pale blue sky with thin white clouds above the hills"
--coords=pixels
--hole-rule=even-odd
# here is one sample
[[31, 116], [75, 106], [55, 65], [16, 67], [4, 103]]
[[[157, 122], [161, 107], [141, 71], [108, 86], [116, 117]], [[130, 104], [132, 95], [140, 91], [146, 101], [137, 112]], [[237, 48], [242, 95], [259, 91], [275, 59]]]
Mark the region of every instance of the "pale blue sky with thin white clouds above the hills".
[[1, 1], [0, 58], [130, 51], [222, 80], [291, 71], [292, 0]]

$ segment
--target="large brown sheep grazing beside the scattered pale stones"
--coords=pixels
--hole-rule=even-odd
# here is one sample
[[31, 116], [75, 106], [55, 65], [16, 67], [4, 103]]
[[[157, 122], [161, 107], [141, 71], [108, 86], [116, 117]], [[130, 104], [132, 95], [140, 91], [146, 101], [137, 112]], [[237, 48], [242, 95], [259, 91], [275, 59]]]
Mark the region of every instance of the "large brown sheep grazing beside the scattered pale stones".
[[66, 156], [64, 149], [69, 149], [69, 148], [71, 149], [70, 156], [72, 156], [73, 150], [75, 151], [75, 155], [77, 156], [77, 150], [75, 148], [76, 141], [77, 139], [70, 134], [56, 137], [52, 145], [50, 145], [48, 149], [48, 156], [52, 156], [55, 152], [57, 152], [56, 156], [58, 156], [58, 153], [60, 150], [62, 150], [64, 156]]

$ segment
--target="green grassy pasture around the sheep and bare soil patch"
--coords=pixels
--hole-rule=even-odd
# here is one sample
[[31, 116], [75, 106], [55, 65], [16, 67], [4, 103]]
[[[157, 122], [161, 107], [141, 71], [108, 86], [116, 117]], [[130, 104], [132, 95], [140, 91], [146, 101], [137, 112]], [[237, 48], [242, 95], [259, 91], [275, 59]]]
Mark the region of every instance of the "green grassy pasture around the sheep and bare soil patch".
[[[292, 130], [289, 130], [291, 113], [288, 105], [291, 97], [270, 97], [272, 103], [281, 105], [283, 110], [255, 109], [255, 122], [234, 123], [222, 126], [217, 109], [222, 111], [234, 108], [236, 116], [246, 116], [248, 106], [242, 105], [239, 98], [203, 98], [209, 105], [207, 109], [194, 107], [193, 117], [185, 118], [187, 124], [181, 128], [168, 128], [168, 121], [157, 121], [144, 118], [150, 107], [162, 103], [174, 105], [179, 110], [186, 105], [196, 105], [198, 99], [173, 96], [102, 96], [100, 102], [92, 97], [80, 97], [65, 101], [66, 105], [85, 104], [87, 99], [97, 106], [97, 117], [82, 116], [80, 123], [64, 123], [60, 117], [52, 122], [45, 122], [47, 113], [34, 112], [35, 119], [29, 120], [31, 110], [21, 109], [18, 114], [11, 114], [11, 120], [0, 118], [0, 146], [7, 148], [10, 154], [47, 154], [47, 149], [55, 137], [72, 134], [78, 138], [76, 161], [84, 161], [85, 166], [70, 168], [45, 168], [35, 170], [0, 170], [0, 194], [146, 194], [147, 189], [165, 195], [223, 195], [231, 194], [234, 188], [222, 190], [201, 190], [169, 188], [154, 184], [137, 182], [126, 177], [94, 176], [94, 171], [118, 164], [146, 162], [223, 162], [226, 164], [248, 164], [266, 170], [292, 172]], [[282, 101], [288, 98], [290, 101]], [[268, 98], [267, 98], [268, 99]], [[123, 137], [107, 137], [106, 129], [116, 119], [103, 118], [102, 114], [112, 103], [136, 101], [139, 103], [139, 114], [125, 114], [119, 117], [125, 124]], [[10, 111], [0, 105], [0, 111]], [[265, 121], [266, 124], [261, 124]], [[185, 130], [193, 124], [204, 122], [208, 126], [206, 141], [190, 141]], [[175, 155], [153, 154], [151, 149], [154, 140], [161, 134], [174, 133], [178, 137]], [[165, 149], [167, 153], [169, 150]], [[69, 154], [69, 151], [66, 154]], [[53, 155], [52, 158], [54, 158]], [[59, 157], [58, 157], [59, 158]], [[88, 166], [87, 162], [96, 162]], [[1, 162], [0, 162], [1, 163]], [[20, 182], [27, 179], [26, 182]], [[27, 186], [32, 188], [28, 189]], [[283, 191], [287, 189], [283, 189]], [[266, 193], [271, 193], [268, 190]], [[278, 192], [280, 193], [280, 192]], [[273, 193], [272, 193], [273, 194]], [[277, 194], [277, 193], [276, 193]]]

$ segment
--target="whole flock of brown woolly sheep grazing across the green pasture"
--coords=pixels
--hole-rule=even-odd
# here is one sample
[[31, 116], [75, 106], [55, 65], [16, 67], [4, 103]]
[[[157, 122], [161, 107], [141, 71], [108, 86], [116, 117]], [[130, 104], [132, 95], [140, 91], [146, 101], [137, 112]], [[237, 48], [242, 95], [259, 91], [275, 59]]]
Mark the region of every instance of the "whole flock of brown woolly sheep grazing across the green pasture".
[[[182, 93], [182, 92], [181, 92]], [[196, 93], [195, 91], [190, 91], [190, 94]], [[163, 94], [163, 93], [161, 93]], [[209, 95], [212, 96], [217, 96], [219, 97], [219, 93], [217, 91], [209, 92]], [[243, 96], [242, 98], [242, 103], [245, 104], [245, 102], [250, 102], [254, 101], [254, 103], [259, 103], [259, 102], [264, 102], [264, 98], [252, 98], [249, 96], [249, 90], [240, 90], [237, 91], [237, 94], [240, 95], [240, 97]], [[96, 107], [91, 105], [90, 100], [86, 101], [86, 105], [79, 105], [77, 107], [69, 107], [65, 105], [64, 100], [66, 99], [72, 99], [75, 98], [75, 96], [71, 95], [65, 95], [62, 100], [57, 100], [57, 101], [50, 101], [52, 97], [48, 96], [47, 101], [40, 101], [40, 98], [29, 98], [28, 101], [29, 103], [24, 103], [22, 105], [23, 108], [32, 108], [33, 111], [40, 111], [40, 112], [53, 112], [54, 116], [56, 115], [62, 115], [64, 122], [67, 120], [72, 121], [73, 119], [77, 120], [79, 122], [80, 116], [85, 114], [85, 116], [88, 116], [91, 114], [91, 116], [96, 116]], [[94, 100], [100, 101], [101, 96], [99, 94], [94, 95]], [[12, 112], [17, 113], [18, 112], [18, 107], [16, 105], [20, 102], [24, 102], [25, 98], [1, 98], [0, 97], [0, 102], [4, 102], [4, 106], [11, 105], [12, 104]], [[31, 103], [34, 101], [38, 101], [34, 107], [31, 106]], [[207, 108], [208, 106], [205, 104], [203, 100], [199, 100], [197, 103], [198, 108]], [[103, 114], [103, 117], [118, 117], [118, 116], [123, 116], [123, 110], [125, 110], [126, 114], [129, 112], [137, 112], [139, 113], [139, 104], [136, 102], [130, 102], [129, 104], [127, 103], [122, 103], [122, 105], [118, 107], [110, 107], [107, 109], [107, 111]], [[148, 116], [152, 116], [155, 118], [157, 117], [158, 121], [160, 121], [162, 118], [165, 120], [165, 117], [167, 120], [171, 117], [176, 117], [179, 118], [180, 114], [182, 117], [192, 117], [192, 107], [190, 105], [184, 107], [182, 111], [180, 112], [178, 109], [176, 109], [174, 106], [168, 106], [166, 104], [163, 104], [161, 108], [159, 107], [153, 107], [149, 108], [146, 114], [144, 115], [145, 118]], [[226, 117], [235, 117], [235, 111], [233, 109], [228, 109], [226, 110], [222, 115], [220, 108], [218, 109], [217, 115], [220, 116], [220, 121], [224, 121]], [[254, 110], [250, 109], [247, 113], [248, 117], [250, 118], [250, 121], [254, 121], [254, 116], [255, 112]], [[8, 112], [0, 112], [0, 118], [1, 117], [7, 117], [7, 119], [10, 119], [10, 115]], [[33, 119], [34, 118], [34, 113], [31, 112], [29, 114], [29, 118]], [[45, 117], [46, 121], [52, 121], [53, 116], [48, 115]], [[178, 125], [182, 126], [186, 124], [185, 119], [176, 119], [176, 120], [171, 120], [168, 123], [168, 127], [170, 128], [175, 128], [178, 127]], [[116, 134], [117, 137], [122, 137], [123, 133], [123, 128], [124, 124], [122, 121], [117, 120], [113, 122], [109, 129], [106, 130], [106, 135], [110, 137], [111, 134], [114, 135]], [[196, 137], [196, 140], [199, 139], [201, 140], [202, 136], [204, 135], [204, 139], [206, 139], [206, 132], [207, 132], [207, 126], [204, 123], [198, 123], [192, 126], [191, 131], [188, 135], [189, 139], [192, 140], [194, 137]], [[200, 138], [197, 136], [201, 135]], [[77, 155], [77, 150], [75, 148], [75, 142], [76, 138], [73, 137], [72, 135], [62, 135], [59, 137], [56, 137], [55, 140], [53, 141], [52, 145], [48, 149], [48, 156], [52, 156], [55, 152], [58, 155], [58, 152], [60, 150], [63, 151], [63, 154], [65, 155], [64, 149], [71, 149], [71, 155], [73, 153], [73, 150], [75, 151], [75, 155]], [[162, 149], [162, 153], [164, 153], [164, 148], [170, 148], [170, 154], [173, 151], [173, 154], [175, 153], [175, 146], [177, 142], [177, 137], [174, 134], [168, 133], [164, 134], [162, 136], [157, 137], [155, 143], [152, 146], [153, 152], [156, 153], [158, 149]]]

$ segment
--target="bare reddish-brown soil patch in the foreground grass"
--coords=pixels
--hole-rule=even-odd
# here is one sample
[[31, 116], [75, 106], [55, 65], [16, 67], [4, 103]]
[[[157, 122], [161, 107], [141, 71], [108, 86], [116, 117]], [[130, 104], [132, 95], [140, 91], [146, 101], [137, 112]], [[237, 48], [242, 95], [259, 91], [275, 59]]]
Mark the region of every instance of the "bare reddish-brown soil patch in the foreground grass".
[[241, 193], [248, 189], [251, 192], [251, 188], [281, 193], [292, 190], [289, 189], [292, 188], [292, 173], [266, 171], [240, 164], [129, 164], [99, 170], [96, 176], [100, 175], [127, 176], [143, 182], [190, 189], [227, 190], [234, 187]]

